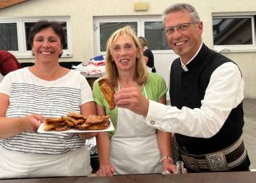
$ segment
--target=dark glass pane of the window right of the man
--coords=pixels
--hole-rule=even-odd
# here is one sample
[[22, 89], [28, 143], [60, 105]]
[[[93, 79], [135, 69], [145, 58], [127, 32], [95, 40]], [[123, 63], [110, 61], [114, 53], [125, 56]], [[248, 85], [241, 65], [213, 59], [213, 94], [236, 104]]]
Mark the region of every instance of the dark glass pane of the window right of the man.
[[251, 18], [213, 18], [214, 45], [252, 45]]

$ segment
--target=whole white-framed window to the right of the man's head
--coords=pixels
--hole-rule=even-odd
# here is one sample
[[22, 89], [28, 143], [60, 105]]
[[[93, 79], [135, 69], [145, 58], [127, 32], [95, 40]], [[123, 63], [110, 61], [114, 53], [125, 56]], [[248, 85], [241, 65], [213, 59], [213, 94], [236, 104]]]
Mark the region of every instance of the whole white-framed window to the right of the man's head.
[[218, 51], [256, 51], [254, 16], [213, 16], [213, 45]]

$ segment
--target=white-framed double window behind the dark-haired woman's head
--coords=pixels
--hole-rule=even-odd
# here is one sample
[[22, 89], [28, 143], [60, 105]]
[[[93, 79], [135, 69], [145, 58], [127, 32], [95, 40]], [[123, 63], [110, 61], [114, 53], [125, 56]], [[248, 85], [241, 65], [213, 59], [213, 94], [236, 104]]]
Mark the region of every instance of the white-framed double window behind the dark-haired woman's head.
[[[0, 19], [0, 50], [11, 51], [17, 58], [31, 58], [31, 45], [28, 36], [31, 27], [42, 18]], [[62, 57], [71, 56], [69, 18], [43, 18], [56, 21], [64, 29], [66, 45]]]

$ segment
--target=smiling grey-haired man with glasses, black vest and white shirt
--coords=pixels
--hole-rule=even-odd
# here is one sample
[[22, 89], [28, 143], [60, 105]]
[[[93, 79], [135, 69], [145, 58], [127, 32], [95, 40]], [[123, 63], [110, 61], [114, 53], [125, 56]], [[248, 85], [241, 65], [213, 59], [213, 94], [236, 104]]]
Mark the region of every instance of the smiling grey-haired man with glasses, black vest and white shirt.
[[171, 106], [145, 99], [135, 88], [116, 92], [116, 105], [175, 133], [179, 159], [189, 172], [249, 170], [242, 140], [244, 81], [238, 66], [202, 43], [203, 26], [193, 6], [169, 6], [163, 24], [168, 45], [180, 56], [171, 64]]

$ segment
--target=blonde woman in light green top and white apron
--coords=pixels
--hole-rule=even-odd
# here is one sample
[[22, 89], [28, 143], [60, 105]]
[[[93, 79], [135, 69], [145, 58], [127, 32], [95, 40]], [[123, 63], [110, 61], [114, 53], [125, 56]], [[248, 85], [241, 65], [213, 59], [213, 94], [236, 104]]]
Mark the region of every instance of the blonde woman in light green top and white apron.
[[[97, 148], [100, 160], [98, 176], [112, 174], [150, 174], [163, 170], [174, 171], [171, 159], [171, 133], [155, 130], [143, 123], [142, 115], [116, 107], [109, 110], [98, 81], [93, 95], [98, 115], [110, 115], [115, 131], [98, 133]], [[167, 86], [157, 73], [148, 73], [135, 32], [131, 27], [116, 30], [106, 48], [106, 79], [116, 91], [137, 89], [143, 96], [166, 104]]]

